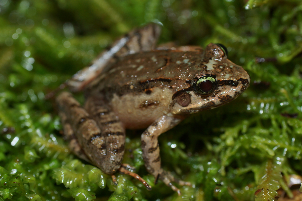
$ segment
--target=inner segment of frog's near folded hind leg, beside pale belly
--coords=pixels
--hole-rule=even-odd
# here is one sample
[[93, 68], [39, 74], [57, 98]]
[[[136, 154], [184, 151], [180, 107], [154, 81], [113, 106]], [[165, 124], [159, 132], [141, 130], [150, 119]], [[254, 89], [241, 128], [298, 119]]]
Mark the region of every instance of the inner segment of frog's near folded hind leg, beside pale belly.
[[[101, 169], [112, 169], [116, 171], [120, 168], [125, 150], [125, 129], [119, 121], [118, 116], [111, 111], [111, 108], [102, 96], [89, 96], [84, 108], [95, 120], [101, 130], [101, 137], [104, 140], [103, 148], [106, 155], [95, 159], [101, 164]], [[99, 140], [92, 140], [97, 143]]]

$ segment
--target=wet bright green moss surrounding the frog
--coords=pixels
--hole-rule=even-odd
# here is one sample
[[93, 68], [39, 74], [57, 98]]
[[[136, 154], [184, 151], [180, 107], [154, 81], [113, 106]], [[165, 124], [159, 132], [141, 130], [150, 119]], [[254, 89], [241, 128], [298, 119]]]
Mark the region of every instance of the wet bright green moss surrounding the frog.
[[[119, 36], [161, 22], [159, 43], [222, 43], [251, 85], [159, 137], [162, 165], [193, 187], [154, 185], [140, 133], [124, 162], [152, 185], [118, 185], [70, 153], [45, 95]], [[0, 0], [1, 200], [275, 200], [301, 175], [302, 2], [299, 0]], [[82, 94], [75, 94], [83, 102]], [[279, 195], [277, 190], [280, 188]]]

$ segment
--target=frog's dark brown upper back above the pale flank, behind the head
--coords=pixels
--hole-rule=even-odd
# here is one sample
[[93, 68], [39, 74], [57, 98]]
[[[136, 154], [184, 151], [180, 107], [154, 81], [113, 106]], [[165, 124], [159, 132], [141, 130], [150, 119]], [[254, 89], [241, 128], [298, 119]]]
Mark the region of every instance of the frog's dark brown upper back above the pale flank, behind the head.
[[[172, 57], [170, 55], [171, 53], [173, 54]], [[183, 63], [183, 60], [186, 59], [182, 57], [184, 55], [190, 59], [189, 62], [192, 61], [191, 64]], [[153, 61], [154, 58], [156, 58], [157, 61]], [[169, 63], [167, 64], [168, 58]], [[137, 62], [138, 60], [140, 60], [140, 62]], [[176, 61], [180, 61], [180, 64], [177, 64]], [[156, 66], [156, 62], [162, 66]], [[136, 67], [132, 68], [131, 65], [136, 65]], [[143, 65], [144, 68], [137, 71], [137, 68], [141, 65]], [[160, 50], [127, 55], [107, 70], [107, 72], [109, 72], [114, 68], [119, 68], [117, 71], [106, 75], [101, 81], [90, 86], [88, 90], [91, 90], [91, 93], [117, 93], [121, 96], [127, 93], [140, 93], [143, 91], [150, 94], [152, 93], [152, 90], [150, 90], [152, 87], [160, 85], [167, 85], [169, 88], [172, 88], [171, 85], [177, 84], [178, 86], [183, 85], [183, 88], [188, 88], [190, 86], [189, 83], [186, 83], [189, 74], [187, 71], [188, 67], [192, 68], [191, 70], [193, 71], [206, 68], [202, 65], [202, 55], [200, 52]], [[120, 74], [121, 71], [124, 71], [124, 77]], [[182, 75], [180, 75], [180, 71], [182, 71]], [[133, 75], [133, 77], [131, 77], [131, 75]], [[135, 77], [135, 75], [137, 77]], [[131, 85], [134, 86], [133, 89], [130, 89]], [[179, 89], [175, 87], [171, 90], [176, 92]]]

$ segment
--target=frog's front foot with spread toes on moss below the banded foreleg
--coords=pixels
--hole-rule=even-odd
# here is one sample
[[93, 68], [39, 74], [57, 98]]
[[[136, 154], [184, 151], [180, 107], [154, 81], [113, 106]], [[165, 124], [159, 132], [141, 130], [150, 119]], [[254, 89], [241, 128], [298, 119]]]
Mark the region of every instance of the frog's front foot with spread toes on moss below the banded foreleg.
[[172, 190], [176, 191], [178, 195], [180, 195], [180, 190], [172, 184], [172, 182], [175, 182], [181, 186], [191, 186], [190, 182], [182, 181], [179, 179], [176, 179], [169, 171], [162, 171], [162, 173], [158, 174], [155, 183], [157, 183], [158, 179], [162, 180], [167, 186], [171, 187]]

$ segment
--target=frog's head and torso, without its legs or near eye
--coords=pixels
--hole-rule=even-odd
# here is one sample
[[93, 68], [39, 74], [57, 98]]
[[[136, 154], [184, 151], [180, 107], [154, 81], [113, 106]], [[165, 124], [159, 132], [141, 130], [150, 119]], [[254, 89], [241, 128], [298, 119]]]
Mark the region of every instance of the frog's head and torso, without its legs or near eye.
[[[210, 93], [195, 90], [212, 77]], [[215, 108], [249, 86], [249, 75], [228, 60], [216, 44], [199, 51], [155, 50], [119, 58], [86, 88], [88, 96], [107, 99], [126, 128], [140, 129], [162, 115], [184, 115]]]

